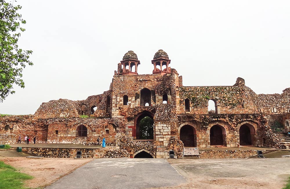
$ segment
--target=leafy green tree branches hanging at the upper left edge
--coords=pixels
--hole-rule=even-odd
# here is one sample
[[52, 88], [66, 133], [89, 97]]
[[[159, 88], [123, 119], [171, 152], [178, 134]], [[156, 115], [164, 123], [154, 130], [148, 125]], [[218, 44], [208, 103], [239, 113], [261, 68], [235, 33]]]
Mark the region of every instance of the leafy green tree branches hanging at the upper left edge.
[[15, 93], [13, 84], [25, 87], [21, 79], [23, 68], [33, 65], [28, 60], [32, 51], [22, 50], [17, 44], [20, 32], [25, 31], [21, 24], [26, 24], [21, 14], [17, 13], [19, 9], [19, 5], [13, 6], [0, 0], [0, 102]]

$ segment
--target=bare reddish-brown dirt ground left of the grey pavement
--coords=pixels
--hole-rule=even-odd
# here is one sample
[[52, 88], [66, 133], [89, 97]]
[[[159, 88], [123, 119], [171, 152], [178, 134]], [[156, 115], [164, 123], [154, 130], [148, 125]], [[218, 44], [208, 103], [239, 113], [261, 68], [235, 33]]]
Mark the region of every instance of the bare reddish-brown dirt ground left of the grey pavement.
[[93, 159], [0, 157], [0, 161], [4, 161], [17, 168], [20, 172], [34, 176], [34, 179], [26, 182], [26, 186], [31, 188], [50, 185], [59, 178], [73, 172], [76, 168], [92, 160]]

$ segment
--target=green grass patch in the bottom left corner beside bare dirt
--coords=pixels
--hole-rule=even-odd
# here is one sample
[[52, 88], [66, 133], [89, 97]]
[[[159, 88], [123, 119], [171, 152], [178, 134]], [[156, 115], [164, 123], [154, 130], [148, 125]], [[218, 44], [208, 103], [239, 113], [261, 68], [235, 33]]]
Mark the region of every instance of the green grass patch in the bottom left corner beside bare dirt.
[[18, 172], [14, 167], [0, 161], [0, 188], [25, 189], [23, 182], [33, 177]]

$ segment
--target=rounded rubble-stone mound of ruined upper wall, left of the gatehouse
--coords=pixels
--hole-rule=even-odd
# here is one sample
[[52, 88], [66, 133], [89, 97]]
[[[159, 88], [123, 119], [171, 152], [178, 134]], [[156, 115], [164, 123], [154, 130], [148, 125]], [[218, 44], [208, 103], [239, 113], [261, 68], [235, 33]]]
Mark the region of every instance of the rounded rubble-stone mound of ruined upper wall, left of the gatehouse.
[[59, 99], [42, 103], [34, 116], [36, 118], [79, 117], [79, 113], [74, 101]]

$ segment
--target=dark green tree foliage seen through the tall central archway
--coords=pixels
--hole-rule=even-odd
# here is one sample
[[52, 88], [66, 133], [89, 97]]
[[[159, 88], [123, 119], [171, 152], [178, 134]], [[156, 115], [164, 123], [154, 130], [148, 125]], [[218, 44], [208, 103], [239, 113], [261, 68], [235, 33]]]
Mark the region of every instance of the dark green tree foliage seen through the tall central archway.
[[153, 119], [144, 117], [139, 122], [139, 139], [153, 139]]

